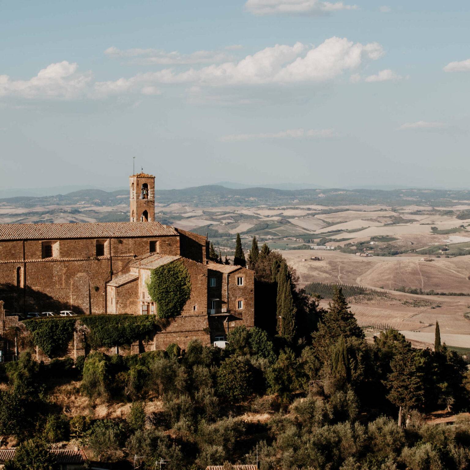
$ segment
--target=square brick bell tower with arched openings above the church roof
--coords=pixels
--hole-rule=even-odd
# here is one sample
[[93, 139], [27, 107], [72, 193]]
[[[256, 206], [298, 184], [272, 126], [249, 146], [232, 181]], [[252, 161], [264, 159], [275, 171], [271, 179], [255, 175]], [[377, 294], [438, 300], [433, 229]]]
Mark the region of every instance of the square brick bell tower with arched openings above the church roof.
[[155, 221], [155, 176], [136, 173], [129, 177], [131, 190], [131, 222]]

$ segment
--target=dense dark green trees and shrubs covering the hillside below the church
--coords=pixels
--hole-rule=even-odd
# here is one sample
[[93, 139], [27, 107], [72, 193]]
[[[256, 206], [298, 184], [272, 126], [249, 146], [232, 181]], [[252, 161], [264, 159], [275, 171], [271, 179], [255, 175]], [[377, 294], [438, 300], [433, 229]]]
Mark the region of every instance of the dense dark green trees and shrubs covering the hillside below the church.
[[[7, 468], [52, 469], [47, 448], [71, 439], [94, 460], [136, 454], [145, 469], [160, 458], [165, 470], [254, 463], [257, 451], [262, 470], [467, 468], [470, 422], [424, 420], [469, 408], [470, 374], [441, 344], [439, 325], [434, 350], [392, 329], [368, 342], [341, 288], [320, 308], [282, 256], [255, 242], [248, 265], [273, 293], [273, 311], [261, 315], [274, 319], [272, 331], [230, 329], [225, 350], [193, 340], [184, 351], [92, 352], [48, 365], [24, 353], [2, 365], [0, 430], [20, 444]], [[52, 399], [72, 382], [89, 400], [86, 416]], [[96, 419], [93, 407], [110, 402], [130, 403], [129, 412]]]

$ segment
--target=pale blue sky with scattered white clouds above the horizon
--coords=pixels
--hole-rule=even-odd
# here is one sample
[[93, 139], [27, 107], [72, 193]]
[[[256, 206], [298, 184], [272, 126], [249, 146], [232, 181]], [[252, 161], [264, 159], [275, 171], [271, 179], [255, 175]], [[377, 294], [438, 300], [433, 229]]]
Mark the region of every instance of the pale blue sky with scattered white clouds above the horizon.
[[162, 189], [468, 188], [469, 24], [460, 0], [3, 0], [0, 188], [125, 188], [134, 162]]

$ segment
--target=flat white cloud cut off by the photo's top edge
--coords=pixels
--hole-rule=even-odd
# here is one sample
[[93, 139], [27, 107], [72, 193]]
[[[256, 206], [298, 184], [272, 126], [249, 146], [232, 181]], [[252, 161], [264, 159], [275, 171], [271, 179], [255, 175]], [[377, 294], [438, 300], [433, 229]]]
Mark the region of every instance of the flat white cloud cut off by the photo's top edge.
[[248, 0], [245, 8], [254, 15], [318, 15], [338, 10], [355, 10], [358, 7], [321, 0]]

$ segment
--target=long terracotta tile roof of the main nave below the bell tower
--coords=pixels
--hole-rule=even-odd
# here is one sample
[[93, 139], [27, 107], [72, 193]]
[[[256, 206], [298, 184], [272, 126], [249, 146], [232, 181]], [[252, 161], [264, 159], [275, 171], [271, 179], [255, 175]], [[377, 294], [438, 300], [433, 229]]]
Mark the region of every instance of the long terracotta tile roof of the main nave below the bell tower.
[[77, 224], [0, 224], [0, 240], [66, 240], [178, 235], [159, 222], [86, 222]]

